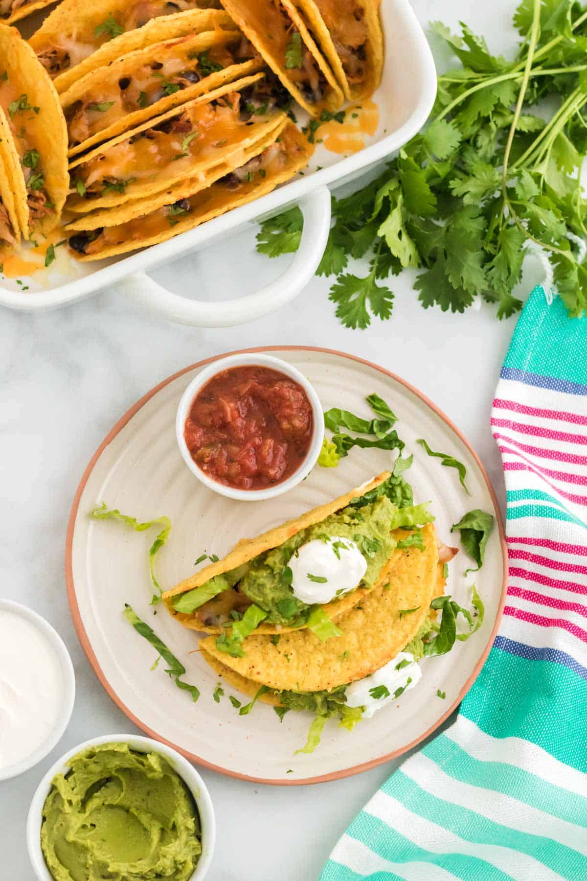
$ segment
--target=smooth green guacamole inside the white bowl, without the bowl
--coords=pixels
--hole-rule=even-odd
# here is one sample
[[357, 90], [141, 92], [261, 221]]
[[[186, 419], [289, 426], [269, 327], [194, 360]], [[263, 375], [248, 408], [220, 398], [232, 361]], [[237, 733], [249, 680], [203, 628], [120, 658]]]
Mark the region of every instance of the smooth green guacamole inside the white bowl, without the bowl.
[[40, 845], [55, 881], [187, 881], [202, 853], [194, 798], [157, 752], [100, 744], [56, 774]]

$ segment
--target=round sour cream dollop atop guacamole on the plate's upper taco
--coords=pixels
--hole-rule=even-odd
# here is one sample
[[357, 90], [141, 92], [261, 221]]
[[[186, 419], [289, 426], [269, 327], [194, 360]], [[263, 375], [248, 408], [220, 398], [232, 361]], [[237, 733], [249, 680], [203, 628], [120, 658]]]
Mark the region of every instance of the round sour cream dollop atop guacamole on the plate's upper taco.
[[354, 590], [367, 571], [367, 560], [349, 538], [314, 538], [290, 562], [291, 588], [302, 603], [329, 603]]

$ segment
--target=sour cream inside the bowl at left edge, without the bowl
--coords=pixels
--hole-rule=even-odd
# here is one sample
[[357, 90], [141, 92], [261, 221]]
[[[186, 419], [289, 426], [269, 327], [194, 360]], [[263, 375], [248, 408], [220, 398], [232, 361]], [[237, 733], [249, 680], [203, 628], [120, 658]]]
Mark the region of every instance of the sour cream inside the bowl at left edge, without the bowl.
[[0, 768], [47, 743], [62, 714], [62, 667], [40, 628], [0, 610]]

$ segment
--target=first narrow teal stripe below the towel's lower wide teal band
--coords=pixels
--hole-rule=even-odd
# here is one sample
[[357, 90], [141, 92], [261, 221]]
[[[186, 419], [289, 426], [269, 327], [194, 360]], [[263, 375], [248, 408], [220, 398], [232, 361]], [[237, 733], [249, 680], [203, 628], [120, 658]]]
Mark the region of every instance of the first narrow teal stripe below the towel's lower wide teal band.
[[[504, 759], [507, 758], [506, 750], [507, 747], [504, 745]], [[576, 796], [575, 793], [554, 786], [553, 783], [548, 783], [536, 774], [531, 774], [516, 765], [473, 759], [473, 756], [445, 734], [432, 740], [422, 752], [429, 759], [437, 762], [444, 774], [461, 783], [493, 789], [504, 796], [529, 804], [538, 811], [546, 811], [547, 814], [552, 814], [553, 817], [566, 820], [568, 823], [587, 827], [587, 797]], [[585, 781], [585, 793], [587, 795], [587, 781]], [[577, 829], [577, 835], [579, 834]]]

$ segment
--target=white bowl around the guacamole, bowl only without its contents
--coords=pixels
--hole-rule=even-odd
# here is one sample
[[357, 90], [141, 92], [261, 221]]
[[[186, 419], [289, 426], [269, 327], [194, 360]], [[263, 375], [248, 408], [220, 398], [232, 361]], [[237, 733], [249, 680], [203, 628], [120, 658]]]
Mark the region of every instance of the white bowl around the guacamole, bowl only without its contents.
[[214, 816], [214, 808], [212, 807], [212, 799], [209, 796], [206, 784], [202, 781], [202, 777], [195, 770], [194, 766], [190, 765], [187, 759], [184, 759], [179, 752], [172, 750], [171, 746], [162, 744], [158, 740], [151, 740], [150, 737], [139, 737], [136, 734], [106, 734], [102, 737], [93, 737], [92, 740], [86, 740], [83, 744], [77, 744], [73, 749], [67, 751], [61, 759], [58, 759], [40, 781], [28, 811], [28, 818], [26, 819], [26, 847], [28, 848], [28, 855], [38, 881], [55, 881], [48, 870], [45, 857], [40, 848], [42, 811], [45, 799], [51, 791], [51, 782], [55, 774], [65, 774], [68, 771], [70, 759], [77, 756], [78, 752], [87, 750], [92, 746], [98, 746], [99, 744], [128, 744], [132, 750], [139, 752], [158, 752], [165, 756], [165, 759], [177, 771], [192, 793], [192, 796], [194, 796], [194, 802], [198, 807], [200, 823], [202, 825], [202, 854], [188, 881], [202, 881], [202, 878], [209, 870], [216, 844], [216, 818]]

